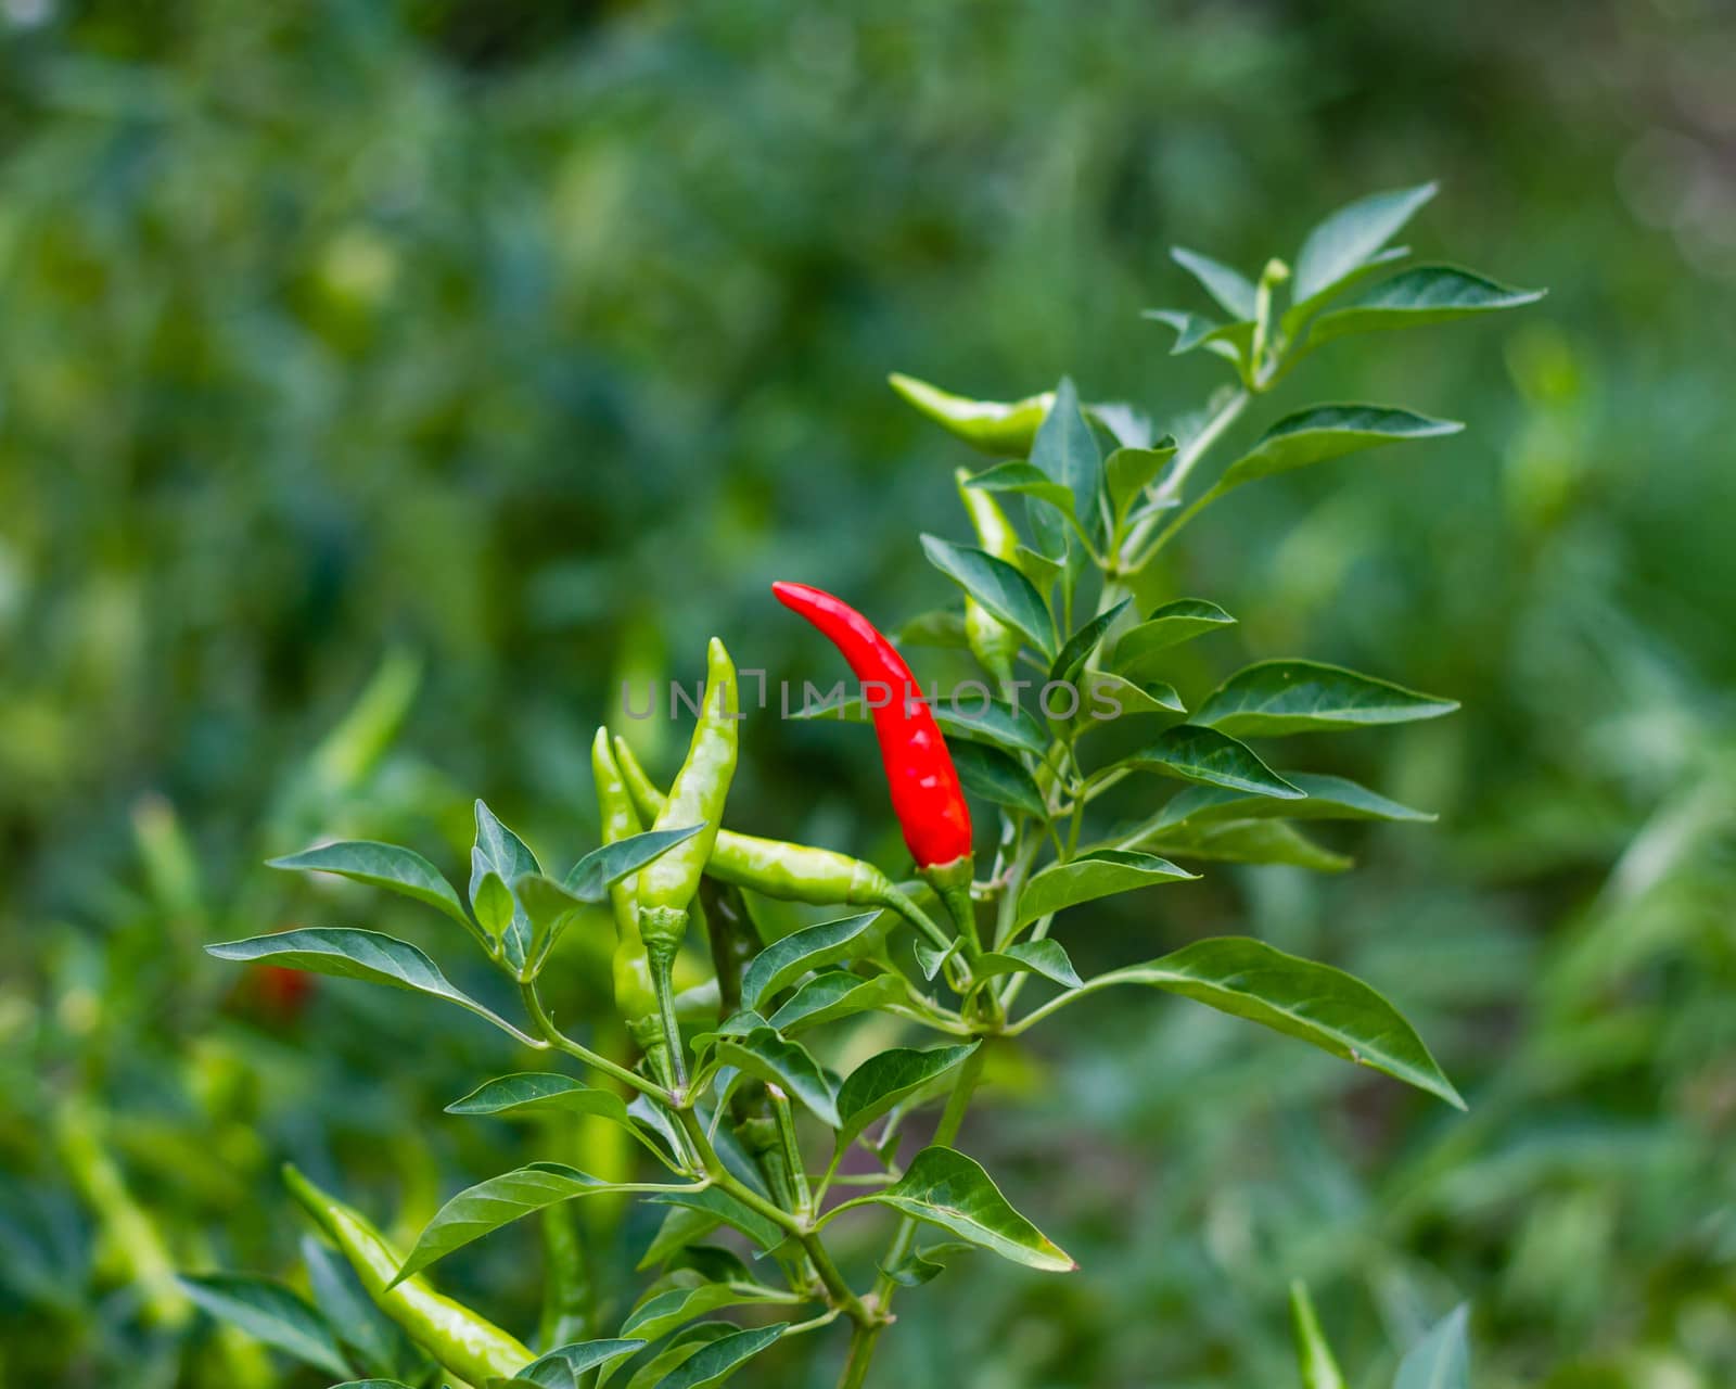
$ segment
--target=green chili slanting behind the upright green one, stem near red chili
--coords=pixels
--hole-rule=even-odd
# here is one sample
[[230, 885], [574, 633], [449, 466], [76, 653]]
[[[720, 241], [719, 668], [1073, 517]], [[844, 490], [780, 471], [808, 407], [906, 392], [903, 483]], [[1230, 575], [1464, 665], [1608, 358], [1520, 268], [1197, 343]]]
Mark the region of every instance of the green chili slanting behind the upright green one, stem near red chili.
[[[658, 816], [665, 807], [663, 792], [646, 774], [634, 750], [621, 738], [615, 740], [615, 760], [621, 780], [642, 816]], [[913, 903], [898, 884], [871, 863], [832, 849], [807, 844], [785, 844], [781, 839], [759, 839], [719, 830], [712, 842], [712, 858], [705, 872], [734, 887], [746, 887], [778, 901], [800, 901], [809, 906], [884, 906], [898, 912], [915, 925], [937, 950], [948, 950], [951, 941], [934, 920]]]

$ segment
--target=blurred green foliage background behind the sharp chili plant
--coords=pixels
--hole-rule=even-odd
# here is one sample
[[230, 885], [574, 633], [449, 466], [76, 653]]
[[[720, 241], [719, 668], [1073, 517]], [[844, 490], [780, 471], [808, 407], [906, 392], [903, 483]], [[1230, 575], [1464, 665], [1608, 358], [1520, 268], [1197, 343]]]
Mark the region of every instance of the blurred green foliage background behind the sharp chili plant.
[[[205, 958], [389, 925], [490, 988], [262, 858], [451, 866], [476, 793], [576, 858], [623, 675], [712, 632], [797, 670], [776, 576], [948, 597], [915, 535], [963, 537], [974, 460], [889, 370], [1161, 420], [1217, 380], [1139, 318], [1201, 307], [1170, 243], [1253, 271], [1429, 177], [1420, 253], [1550, 297], [1344, 344], [1243, 429], [1467, 432], [1238, 493], [1149, 596], [1241, 616], [1201, 684], [1309, 655], [1460, 698], [1337, 766], [1441, 823], [1062, 934], [1345, 964], [1470, 1115], [1180, 1002], [1066, 1014], [967, 1139], [1085, 1271], [974, 1262], [880, 1375], [1269, 1389], [1300, 1274], [1358, 1384], [1460, 1299], [1486, 1389], [1736, 1382], [1733, 71], [1713, 0], [3, 0], [0, 1384], [319, 1384], [163, 1271], [290, 1269], [285, 1156], [413, 1228], [573, 1141], [439, 1113], [517, 1064], [479, 1024]], [[748, 736], [733, 820], [896, 863], [865, 738]], [[535, 1240], [444, 1281], [523, 1330]], [[806, 1340], [778, 1382], [830, 1382]]]

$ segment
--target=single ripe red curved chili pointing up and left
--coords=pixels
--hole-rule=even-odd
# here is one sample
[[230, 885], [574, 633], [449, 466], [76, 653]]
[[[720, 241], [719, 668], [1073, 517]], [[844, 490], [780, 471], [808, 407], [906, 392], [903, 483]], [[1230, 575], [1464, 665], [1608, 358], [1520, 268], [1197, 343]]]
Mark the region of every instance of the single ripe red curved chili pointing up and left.
[[[873, 623], [842, 599], [806, 583], [773, 583], [778, 602], [807, 618], [844, 655], [865, 686], [877, 684], [891, 698], [873, 708], [880, 760], [892, 790], [892, 813], [904, 826], [904, 844], [918, 868], [970, 858], [970, 809], [965, 806], [953, 757], [922, 700], [922, 688]], [[880, 691], [866, 691], [870, 703]]]

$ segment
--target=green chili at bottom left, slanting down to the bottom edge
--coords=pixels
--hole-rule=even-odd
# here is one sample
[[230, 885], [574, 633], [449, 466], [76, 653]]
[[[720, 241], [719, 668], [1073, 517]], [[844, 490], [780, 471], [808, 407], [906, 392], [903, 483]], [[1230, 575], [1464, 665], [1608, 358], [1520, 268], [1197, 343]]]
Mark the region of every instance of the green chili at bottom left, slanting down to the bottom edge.
[[328, 1196], [293, 1167], [283, 1168], [283, 1181], [356, 1269], [375, 1306], [450, 1373], [486, 1384], [490, 1379], [512, 1379], [536, 1358], [493, 1321], [434, 1292], [424, 1278], [406, 1278], [391, 1287], [403, 1261], [366, 1217]]

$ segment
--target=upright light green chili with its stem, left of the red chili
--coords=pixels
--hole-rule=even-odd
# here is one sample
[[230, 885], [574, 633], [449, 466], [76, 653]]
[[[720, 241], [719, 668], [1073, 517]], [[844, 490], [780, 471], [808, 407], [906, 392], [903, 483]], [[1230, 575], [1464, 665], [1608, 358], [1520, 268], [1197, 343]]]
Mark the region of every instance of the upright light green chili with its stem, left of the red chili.
[[729, 781], [736, 774], [738, 724], [741, 721], [741, 693], [736, 688], [736, 667], [724, 644], [712, 637], [705, 653], [705, 701], [700, 722], [687, 745], [687, 760], [675, 773], [668, 800], [658, 813], [653, 828], [670, 830], [700, 825], [693, 835], [661, 858], [639, 870], [639, 939], [651, 958], [651, 984], [656, 990], [663, 1035], [668, 1038], [675, 1089], [686, 1085], [686, 1066], [681, 1057], [681, 1031], [675, 1026], [675, 1000], [670, 971], [675, 951], [687, 934], [687, 906], [700, 891], [705, 861], [717, 842], [717, 823], [724, 818], [729, 799]]

